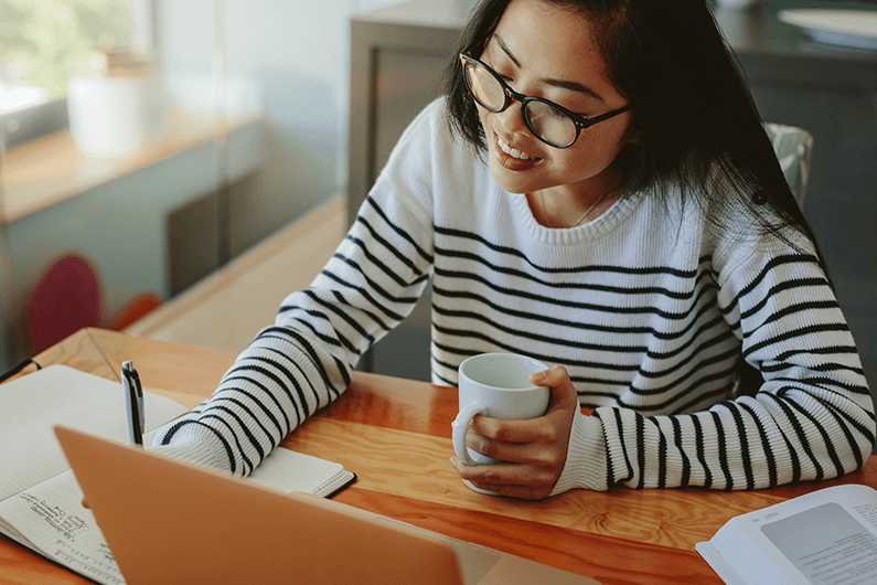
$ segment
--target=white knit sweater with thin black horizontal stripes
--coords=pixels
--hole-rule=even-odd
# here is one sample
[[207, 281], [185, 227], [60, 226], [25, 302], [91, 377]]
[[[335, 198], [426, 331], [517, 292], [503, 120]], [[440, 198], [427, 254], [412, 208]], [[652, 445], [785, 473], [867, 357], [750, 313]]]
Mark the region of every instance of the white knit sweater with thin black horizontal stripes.
[[[344, 392], [431, 278], [434, 383], [456, 385], [471, 354], [520, 352], [566, 366], [592, 408], [575, 419], [554, 493], [756, 489], [862, 466], [874, 406], [806, 242], [646, 193], [585, 225], [544, 227], [448, 129], [443, 107], [408, 127], [323, 272], [157, 449], [248, 474]], [[740, 387], [744, 362], [763, 381]]]

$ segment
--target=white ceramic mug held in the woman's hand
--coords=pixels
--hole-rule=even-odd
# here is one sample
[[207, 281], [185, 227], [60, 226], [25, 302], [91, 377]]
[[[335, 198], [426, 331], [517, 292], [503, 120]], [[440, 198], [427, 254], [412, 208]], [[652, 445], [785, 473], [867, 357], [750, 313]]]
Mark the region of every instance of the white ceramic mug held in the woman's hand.
[[544, 415], [550, 390], [533, 385], [528, 376], [547, 369], [544, 363], [516, 353], [481, 353], [463, 360], [458, 382], [460, 412], [451, 423], [453, 450], [462, 462], [502, 462], [467, 448], [469, 423], [477, 414], [501, 421], [525, 421]]

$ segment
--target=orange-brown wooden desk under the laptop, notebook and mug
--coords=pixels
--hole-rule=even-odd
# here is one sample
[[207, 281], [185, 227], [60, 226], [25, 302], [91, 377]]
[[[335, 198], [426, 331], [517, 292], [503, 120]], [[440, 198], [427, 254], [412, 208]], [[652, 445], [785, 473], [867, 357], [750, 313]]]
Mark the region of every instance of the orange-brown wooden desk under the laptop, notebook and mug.
[[[145, 386], [186, 406], [210, 395], [234, 355], [84, 329], [36, 357], [118, 380], [133, 360]], [[467, 489], [448, 462], [454, 389], [356, 373], [347, 393], [282, 445], [339, 461], [359, 480], [335, 500], [602, 583], [721, 584], [694, 551], [736, 514], [841, 482], [877, 487], [871, 457], [841, 480], [770, 491], [576, 490], [528, 502]], [[0, 540], [0, 585], [87, 581]]]

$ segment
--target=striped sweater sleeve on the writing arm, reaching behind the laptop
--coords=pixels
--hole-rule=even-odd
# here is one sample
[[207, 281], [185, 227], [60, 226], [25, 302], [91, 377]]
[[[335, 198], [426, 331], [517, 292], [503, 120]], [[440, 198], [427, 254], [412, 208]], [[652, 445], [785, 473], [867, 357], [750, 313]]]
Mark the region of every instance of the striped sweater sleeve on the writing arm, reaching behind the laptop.
[[403, 135], [311, 286], [282, 301], [275, 323], [237, 357], [206, 402], [159, 430], [156, 451], [248, 475], [334, 401], [362, 354], [414, 309], [432, 265], [429, 166], [438, 107]]

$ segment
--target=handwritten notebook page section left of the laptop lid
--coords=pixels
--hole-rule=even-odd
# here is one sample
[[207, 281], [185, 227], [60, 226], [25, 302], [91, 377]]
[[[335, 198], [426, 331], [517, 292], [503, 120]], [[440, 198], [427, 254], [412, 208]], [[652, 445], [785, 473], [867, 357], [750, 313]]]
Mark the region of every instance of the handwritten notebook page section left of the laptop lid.
[[82, 506], [76, 476], [67, 470], [0, 502], [0, 525], [22, 544], [105, 585], [124, 585], [104, 534]]

